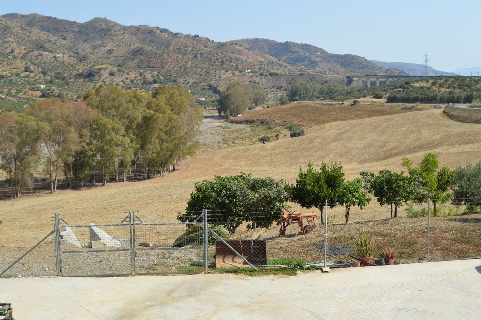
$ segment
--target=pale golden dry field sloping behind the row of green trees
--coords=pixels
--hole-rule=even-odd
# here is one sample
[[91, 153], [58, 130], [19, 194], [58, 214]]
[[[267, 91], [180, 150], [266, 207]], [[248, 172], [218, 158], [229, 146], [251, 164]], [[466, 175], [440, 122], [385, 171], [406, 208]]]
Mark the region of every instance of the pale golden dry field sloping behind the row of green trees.
[[[368, 109], [369, 112], [371, 109]], [[347, 117], [349, 114], [344, 115]], [[400, 171], [404, 156], [412, 158], [416, 163], [428, 152], [436, 154], [441, 165], [452, 168], [481, 159], [480, 125], [453, 121], [443, 114], [443, 110], [380, 116], [373, 113], [371, 117], [359, 117], [309, 128], [305, 136], [298, 138], [284, 137], [266, 144], [205, 151], [184, 160], [177, 166], [176, 172], [163, 178], [3, 200], [0, 202], [0, 219], [3, 220], [0, 246], [18, 247], [26, 245], [25, 243], [35, 243], [52, 229], [53, 212], [61, 212], [63, 218], [71, 224], [120, 222], [127, 210], [139, 211], [139, 216], [145, 222], [174, 221], [177, 213], [185, 210], [194, 183], [211, 179], [215, 175], [243, 171], [255, 176], [271, 176], [293, 182], [299, 167], [305, 167], [309, 161], [317, 166], [321, 161], [338, 160], [344, 166], [346, 178], [352, 179], [363, 170], [377, 172], [382, 168], [390, 168]], [[298, 207], [293, 205], [293, 208]], [[403, 210], [399, 216], [405, 216]], [[342, 223], [343, 209], [337, 207], [330, 210], [330, 217], [332, 223]], [[350, 223], [388, 217], [389, 208], [371, 204], [362, 211], [352, 210]], [[414, 220], [402, 221], [408, 223]], [[339, 236], [351, 236], [362, 230], [362, 226], [356, 224], [346, 228], [347, 231], [340, 231]], [[415, 227], [416, 230], [424, 230], [423, 228], [423, 224]], [[268, 232], [275, 233], [277, 229], [274, 225]], [[413, 234], [418, 232], [416, 230], [412, 231]], [[243, 231], [240, 231], [239, 236], [242, 237]], [[385, 232], [387, 239], [393, 232], [399, 232], [388, 231]], [[26, 235], [31, 239], [25, 238]], [[317, 238], [314, 236], [313, 241], [320, 239]], [[292, 241], [299, 242], [299, 239], [301, 238]], [[296, 250], [300, 252], [303, 248], [312, 249], [307, 249], [308, 243], [299, 245]], [[305, 253], [304, 256], [312, 255]]]

